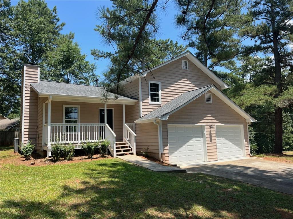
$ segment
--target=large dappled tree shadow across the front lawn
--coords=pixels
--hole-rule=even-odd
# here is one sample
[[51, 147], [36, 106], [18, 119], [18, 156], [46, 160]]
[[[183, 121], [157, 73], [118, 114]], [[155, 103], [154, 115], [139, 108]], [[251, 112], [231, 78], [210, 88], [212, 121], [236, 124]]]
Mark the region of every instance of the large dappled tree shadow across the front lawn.
[[2, 208], [21, 212], [7, 218], [281, 218], [277, 209], [293, 216], [292, 196], [248, 184], [118, 159], [89, 164], [78, 185], [61, 187], [59, 202], [5, 201]]

